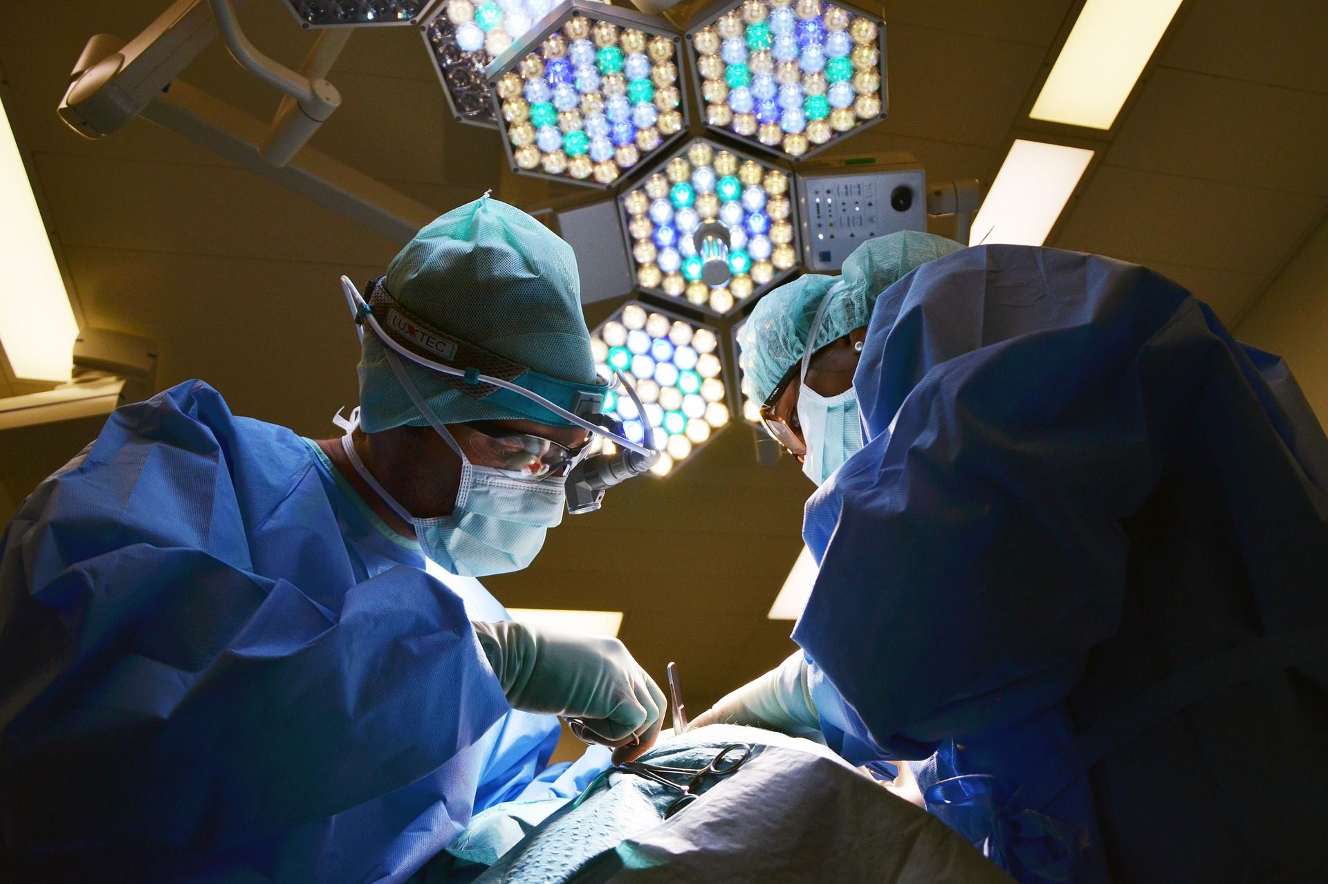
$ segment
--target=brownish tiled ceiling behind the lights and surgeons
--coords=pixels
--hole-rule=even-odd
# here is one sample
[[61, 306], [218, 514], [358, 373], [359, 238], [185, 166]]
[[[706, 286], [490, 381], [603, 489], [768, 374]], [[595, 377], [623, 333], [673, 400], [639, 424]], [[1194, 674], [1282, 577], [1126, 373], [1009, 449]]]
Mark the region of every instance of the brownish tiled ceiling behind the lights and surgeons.
[[[202, 377], [238, 413], [331, 433], [355, 400], [336, 277], [376, 275], [397, 244], [147, 122], [97, 142], [62, 126], [54, 108], [86, 38], [131, 37], [166, 0], [8, 5], [9, 115], [84, 321], [157, 340], [162, 385]], [[838, 153], [907, 150], [932, 179], [989, 182], [1016, 133], [1048, 131], [1024, 114], [1078, 5], [888, 0], [890, 117]], [[279, 60], [308, 49], [278, 0], [250, 0], [242, 17]], [[1077, 134], [1101, 162], [1049, 244], [1147, 263], [1235, 325], [1328, 208], [1325, 45], [1321, 0], [1187, 0], [1116, 130]], [[183, 80], [262, 118], [276, 106], [219, 45]], [[444, 211], [486, 187], [523, 206], [576, 192], [511, 178], [494, 133], [453, 122], [410, 29], [356, 33], [329, 80], [343, 108], [315, 145], [425, 204]], [[76, 442], [25, 457], [58, 463]], [[713, 698], [791, 649], [789, 624], [764, 615], [797, 556], [810, 486], [791, 463], [757, 467], [750, 446], [746, 427], [725, 431], [668, 482], [639, 480], [568, 519], [530, 571], [489, 584], [511, 605], [625, 611], [637, 657], [656, 674], [677, 660], [693, 705]]]

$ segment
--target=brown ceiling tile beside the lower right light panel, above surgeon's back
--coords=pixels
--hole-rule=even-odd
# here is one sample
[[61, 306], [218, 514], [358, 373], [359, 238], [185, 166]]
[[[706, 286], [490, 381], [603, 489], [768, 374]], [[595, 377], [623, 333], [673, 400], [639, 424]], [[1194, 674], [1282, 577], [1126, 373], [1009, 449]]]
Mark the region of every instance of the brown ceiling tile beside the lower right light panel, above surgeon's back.
[[1319, 216], [1321, 196], [1102, 163], [1053, 246], [1149, 264], [1267, 275]]

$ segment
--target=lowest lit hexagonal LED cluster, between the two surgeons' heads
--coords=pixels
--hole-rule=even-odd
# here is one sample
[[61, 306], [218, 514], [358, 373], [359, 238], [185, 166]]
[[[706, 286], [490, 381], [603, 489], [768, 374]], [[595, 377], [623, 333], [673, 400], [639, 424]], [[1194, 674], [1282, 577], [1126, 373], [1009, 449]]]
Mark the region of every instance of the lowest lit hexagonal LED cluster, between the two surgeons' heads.
[[604, 413], [633, 442], [649, 433], [661, 453], [655, 475], [668, 475], [729, 422], [713, 328], [628, 301], [591, 334], [591, 352], [600, 374], [624, 372], [636, 388], [644, 414], [624, 389], [606, 394]]

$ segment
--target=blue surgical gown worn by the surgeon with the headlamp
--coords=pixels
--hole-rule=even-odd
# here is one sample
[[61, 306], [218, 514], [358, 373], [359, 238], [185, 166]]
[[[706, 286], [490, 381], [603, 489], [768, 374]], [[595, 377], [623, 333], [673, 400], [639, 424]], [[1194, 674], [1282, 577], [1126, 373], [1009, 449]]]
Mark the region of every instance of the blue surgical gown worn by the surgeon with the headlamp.
[[470, 629], [502, 605], [199, 381], [117, 410], [0, 551], [0, 879], [401, 881], [604, 766], [544, 770], [556, 718]]

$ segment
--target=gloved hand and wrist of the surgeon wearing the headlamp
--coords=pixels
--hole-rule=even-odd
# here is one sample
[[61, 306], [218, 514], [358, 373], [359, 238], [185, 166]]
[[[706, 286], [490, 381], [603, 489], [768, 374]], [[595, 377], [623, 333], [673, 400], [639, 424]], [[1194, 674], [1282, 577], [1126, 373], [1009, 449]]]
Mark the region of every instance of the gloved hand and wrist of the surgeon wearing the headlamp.
[[578, 735], [615, 747], [614, 763], [655, 743], [668, 701], [618, 638], [511, 621], [471, 625], [513, 709], [580, 718]]

